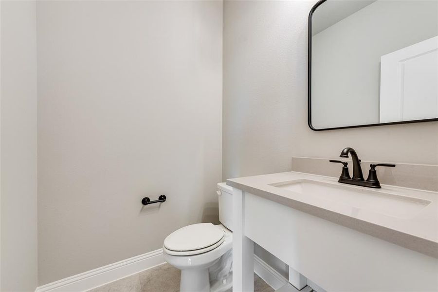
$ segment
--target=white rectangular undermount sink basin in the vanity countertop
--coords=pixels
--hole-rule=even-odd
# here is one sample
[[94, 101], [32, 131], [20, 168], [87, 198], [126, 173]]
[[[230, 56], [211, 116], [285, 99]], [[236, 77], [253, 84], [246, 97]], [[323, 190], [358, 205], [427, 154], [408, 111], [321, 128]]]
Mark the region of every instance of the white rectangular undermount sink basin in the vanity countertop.
[[386, 192], [384, 189], [374, 190], [308, 179], [270, 183], [269, 185], [318, 200], [348, 205], [355, 211], [367, 210], [396, 218], [413, 217], [431, 203], [431, 201], [420, 198]]

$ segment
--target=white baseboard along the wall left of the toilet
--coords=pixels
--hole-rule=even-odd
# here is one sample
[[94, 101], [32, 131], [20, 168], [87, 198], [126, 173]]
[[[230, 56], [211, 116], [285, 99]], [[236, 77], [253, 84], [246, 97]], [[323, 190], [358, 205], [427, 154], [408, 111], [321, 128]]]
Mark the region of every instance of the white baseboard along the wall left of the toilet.
[[140, 273], [164, 262], [163, 249], [158, 249], [37, 287], [35, 292], [88, 291], [129, 275]]

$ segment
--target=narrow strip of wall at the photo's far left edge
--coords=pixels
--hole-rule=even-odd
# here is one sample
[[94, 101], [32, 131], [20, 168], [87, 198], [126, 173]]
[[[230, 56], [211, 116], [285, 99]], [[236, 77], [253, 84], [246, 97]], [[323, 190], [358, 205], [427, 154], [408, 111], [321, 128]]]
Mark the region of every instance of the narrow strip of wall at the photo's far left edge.
[[1, 1], [0, 291], [37, 287], [36, 2]]

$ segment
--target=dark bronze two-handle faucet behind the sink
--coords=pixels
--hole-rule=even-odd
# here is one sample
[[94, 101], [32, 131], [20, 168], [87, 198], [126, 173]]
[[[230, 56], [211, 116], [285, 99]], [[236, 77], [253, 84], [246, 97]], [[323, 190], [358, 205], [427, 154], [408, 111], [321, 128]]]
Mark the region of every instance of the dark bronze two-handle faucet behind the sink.
[[379, 180], [377, 179], [377, 166], [386, 166], [386, 167], [395, 167], [395, 164], [387, 164], [387, 163], [379, 163], [379, 164], [370, 164], [369, 174], [366, 181], [364, 180], [364, 175], [362, 174], [361, 160], [357, 157], [356, 151], [347, 147], [342, 150], [341, 155], [339, 157], [348, 158], [348, 154], [351, 155], [351, 159], [353, 160], [353, 177], [350, 178], [348, 174], [348, 163], [339, 161], [339, 160], [330, 160], [330, 162], [342, 163], [344, 167], [342, 167], [342, 174], [339, 177], [339, 183], [348, 183], [359, 186], [373, 187], [373, 188], [381, 188]]

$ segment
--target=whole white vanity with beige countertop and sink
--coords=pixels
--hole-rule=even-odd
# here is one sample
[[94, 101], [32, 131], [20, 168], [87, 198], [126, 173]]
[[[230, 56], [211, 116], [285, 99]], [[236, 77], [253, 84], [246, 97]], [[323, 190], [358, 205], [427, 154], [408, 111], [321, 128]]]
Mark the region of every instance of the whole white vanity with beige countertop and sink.
[[[438, 192], [284, 172], [233, 187], [233, 291], [253, 291], [254, 243], [327, 291], [438, 291]], [[301, 287], [299, 287], [301, 285]]]

